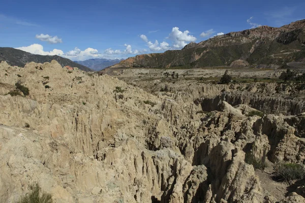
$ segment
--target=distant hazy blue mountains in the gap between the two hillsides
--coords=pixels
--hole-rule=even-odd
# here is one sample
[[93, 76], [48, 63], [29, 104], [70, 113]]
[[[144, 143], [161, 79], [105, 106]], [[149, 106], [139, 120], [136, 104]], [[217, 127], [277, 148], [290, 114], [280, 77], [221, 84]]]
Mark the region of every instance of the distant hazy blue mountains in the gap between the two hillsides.
[[74, 61], [74, 62], [87, 66], [94, 71], [100, 71], [100, 70], [104, 69], [105, 67], [108, 67], [110, 65], [114, 65], [114, 64], [120, 62], [121, 60], [124, 60], [124, 59], [93, 58], [93, 59], [88, 59], [88, 60], [83, 60], [83, 61]]

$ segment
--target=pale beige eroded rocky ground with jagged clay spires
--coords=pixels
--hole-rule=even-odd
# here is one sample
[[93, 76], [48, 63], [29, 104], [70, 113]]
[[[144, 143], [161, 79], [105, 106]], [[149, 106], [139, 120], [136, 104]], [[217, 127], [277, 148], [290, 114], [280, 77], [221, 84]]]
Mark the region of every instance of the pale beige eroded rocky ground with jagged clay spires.
[[[304, 162], [304, 92], [136, 77], [2, 62], [1, 202], [33, 182], [54, 202], [305, 201], [299, 181], [272, 178], [276, 162]], [[18, 81], [29, 95], [8, 94]], [[266, 149], [265, 170], [245, 162]]]

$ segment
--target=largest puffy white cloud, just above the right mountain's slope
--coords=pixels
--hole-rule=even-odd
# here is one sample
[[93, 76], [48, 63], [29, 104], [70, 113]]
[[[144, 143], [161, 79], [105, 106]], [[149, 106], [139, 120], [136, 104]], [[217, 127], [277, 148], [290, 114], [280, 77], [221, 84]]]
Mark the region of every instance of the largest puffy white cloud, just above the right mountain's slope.
[[181, 49], [188, 44], [187, 42], [195, 42], [197, 39], [194, 36], [189, 35], [189, 33], [189, 30], [182, 32], [179, 30], [179, 27], [173, 27], [168, 36], [168, 39], [173, 41], [172, 47], [175, 49]]

